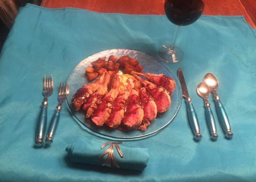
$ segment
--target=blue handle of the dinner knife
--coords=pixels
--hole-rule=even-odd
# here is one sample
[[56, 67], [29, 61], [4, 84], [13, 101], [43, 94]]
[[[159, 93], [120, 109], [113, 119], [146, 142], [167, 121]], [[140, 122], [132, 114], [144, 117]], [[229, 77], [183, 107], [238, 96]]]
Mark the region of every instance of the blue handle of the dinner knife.
[[194, 109], [194, 106], [191, 102], [191, 98], [187, 98], [187, 114], [195, 140], [201, 140], [202, 135], [200, 133], [200, 126], [196, 115], [196, 110]]

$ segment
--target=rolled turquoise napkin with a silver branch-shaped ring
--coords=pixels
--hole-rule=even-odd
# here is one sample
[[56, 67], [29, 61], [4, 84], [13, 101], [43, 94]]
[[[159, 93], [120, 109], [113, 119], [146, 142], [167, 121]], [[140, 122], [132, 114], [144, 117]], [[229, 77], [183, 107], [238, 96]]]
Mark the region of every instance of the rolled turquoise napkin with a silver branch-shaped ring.
[[85, 137], [69, 144], [66, 151], [73, 162], [133, 170], [144, 170], [149, 158], [148, 148], [127, 147], [121, 142]]

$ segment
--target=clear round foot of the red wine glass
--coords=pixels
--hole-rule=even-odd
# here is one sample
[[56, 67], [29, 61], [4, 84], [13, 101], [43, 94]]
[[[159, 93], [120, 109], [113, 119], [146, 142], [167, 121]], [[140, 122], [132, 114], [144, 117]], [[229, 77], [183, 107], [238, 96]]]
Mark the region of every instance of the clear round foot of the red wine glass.
[[158, 49], [158, 57], [167, 63], [177, 63], [182, 60], [183, 52], [179, 47], [170, 49], [171, 45], [163, 45]]

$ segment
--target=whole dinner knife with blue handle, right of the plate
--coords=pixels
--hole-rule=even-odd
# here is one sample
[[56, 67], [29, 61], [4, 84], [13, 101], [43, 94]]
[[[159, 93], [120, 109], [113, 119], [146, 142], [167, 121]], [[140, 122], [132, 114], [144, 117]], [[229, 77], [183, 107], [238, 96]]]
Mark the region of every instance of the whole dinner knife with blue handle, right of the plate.
[[189, 92], [187, 90], [187, 85], [186, 85], [184, 75], [183, 75], [181, 68], [178, 69], [177, 75], [178, 75], [179, 82], [180, 82], [181, 88], [182, 88], [182, 97], [184, 97], [186, 99], [187, 115], [188, 115], [190, 127], [194, 134], [194, 139], [201, 140], [202, 135], [200, 133], [200, 126], [199, 126], [198, 118], [196, 115], [196, 110], [194, 109], [191, 98], [189, 97]]

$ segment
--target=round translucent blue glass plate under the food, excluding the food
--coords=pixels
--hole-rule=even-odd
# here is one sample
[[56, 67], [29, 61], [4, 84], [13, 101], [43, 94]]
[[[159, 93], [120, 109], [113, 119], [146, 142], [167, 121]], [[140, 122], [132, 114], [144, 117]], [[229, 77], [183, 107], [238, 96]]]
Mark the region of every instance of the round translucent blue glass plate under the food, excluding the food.
[[[86, 76], [85, 76], [85, 70], [87, 66], [91, 65], [91, 62], [96, 61], [100, 57], [105, 57], [106, 60], [108, 60], [108, 57], [110, 55], [115, 55], [117, 58], [121, 56], [130, 56], [131, 58], [136, 58], [137, 61], [143, 66], [144, 73], [151, 72], [154, 74], [160, 74], [163, 73], [176, 82], [176, 88], [174, 92], [171, 95], [171, 106], [169, 109], [162, 113], [160, 116], [156, 118], [156, 120], [152, 121], [151, 125], [147, 127], [145, 131], [141, 130], [134, 130], [134, 131], [120, 131], [118, 129], [111, 129], [106, 127], [99, 127], [95, 124], [86, 121], [86, 118], [84, 114], [80, 111], [74, 111], [72, 106], [72, 96], [76, 91], [81, 88], [83, 84], [89, 83]], [[107, 138], [120, 138], [120, 139], [132, 139], [132, 138], [141, 138], [148, 135], [151, 135], [153, 133], [156, 133], [166, 127], [172, 119], [176, 116], [179, 107], [182, 102], [182, 91], [181, 86], [179, 83], [179, 80], [176, 76], [176, 74], [172, 73], [170, 70], [167, 70], [162, 63], [160, 63], [160, 60], [156, 57], [153, 57], [151, 55], [148, 55], [144, 52], [132, 50], [132, 49], [111, 49], [106, 51], [101, 51], [99, 53], [93, 54], [92, 56], [89, 56], [88, 58], [81, 61], [76, 68], [72, 71], [72, 73], [69, 75], [69, 96], [67, 97], [67, 103], [69, 105], [69, 109], [71, 110], [72, 114], [76, 118], [75, 120], [80, 122], [80, 126], [83, 128], [89, 128], [92, 133], [101, 136], [106, 136]], [[86, 129], [85, 128], [85, 129]], [[98, 134], [97, 134], [98, 133]]]

